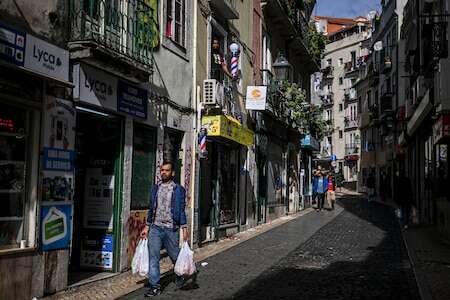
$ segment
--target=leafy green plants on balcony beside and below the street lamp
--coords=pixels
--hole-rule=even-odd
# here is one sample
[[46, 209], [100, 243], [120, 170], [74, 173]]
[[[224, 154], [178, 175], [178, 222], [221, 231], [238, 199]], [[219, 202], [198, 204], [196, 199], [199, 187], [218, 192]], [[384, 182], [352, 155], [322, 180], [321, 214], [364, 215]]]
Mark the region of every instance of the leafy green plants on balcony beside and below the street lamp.
[[322, 108], [308, 103], [306, 91], [296, 83], [284, 83], [280, 93], [287, 109], [292, 112], [291, 118], [302, 133], [322, 139], [326, 126]]

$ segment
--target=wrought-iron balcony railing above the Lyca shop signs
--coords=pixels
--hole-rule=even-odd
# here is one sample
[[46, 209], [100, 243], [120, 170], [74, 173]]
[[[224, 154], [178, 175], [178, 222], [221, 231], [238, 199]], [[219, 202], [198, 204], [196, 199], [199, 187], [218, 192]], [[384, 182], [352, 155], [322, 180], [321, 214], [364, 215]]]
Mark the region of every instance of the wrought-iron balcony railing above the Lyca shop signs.
[[158, 45], [157, 8], [145, 0], [72, 0], [70, 40], [151, 65]]

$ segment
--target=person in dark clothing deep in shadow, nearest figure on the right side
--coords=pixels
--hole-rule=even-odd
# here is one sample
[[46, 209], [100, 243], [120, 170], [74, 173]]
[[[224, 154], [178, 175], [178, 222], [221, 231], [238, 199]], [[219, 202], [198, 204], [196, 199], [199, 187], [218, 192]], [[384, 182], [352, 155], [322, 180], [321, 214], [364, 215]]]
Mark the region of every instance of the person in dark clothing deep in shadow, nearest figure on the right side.
[[408, 229], [413, 203], [411, 181], [404, 173], [397, 171], [394, 185], [394, 201], [402, 212], [401, 225]]

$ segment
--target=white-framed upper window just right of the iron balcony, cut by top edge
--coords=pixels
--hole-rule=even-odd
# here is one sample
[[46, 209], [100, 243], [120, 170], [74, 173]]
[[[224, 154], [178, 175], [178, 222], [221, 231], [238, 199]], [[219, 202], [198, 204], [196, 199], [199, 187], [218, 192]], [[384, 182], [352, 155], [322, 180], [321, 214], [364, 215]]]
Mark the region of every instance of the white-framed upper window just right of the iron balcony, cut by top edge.
[[167, 0], [165, 35], [186, 47], [186, 0]]

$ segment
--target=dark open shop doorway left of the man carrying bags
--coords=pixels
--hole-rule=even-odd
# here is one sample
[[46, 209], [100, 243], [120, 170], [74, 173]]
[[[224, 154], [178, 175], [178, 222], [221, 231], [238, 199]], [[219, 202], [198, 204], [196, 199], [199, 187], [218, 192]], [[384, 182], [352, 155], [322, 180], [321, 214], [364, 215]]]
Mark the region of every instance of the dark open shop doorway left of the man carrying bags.
[[[123, 122], [77, 112], [71, 271], [117, 271], [120, 253]], [[69, 277], [71, 283], [81, 273]], [[86, 274], [86, 273], [85, 273]]]

